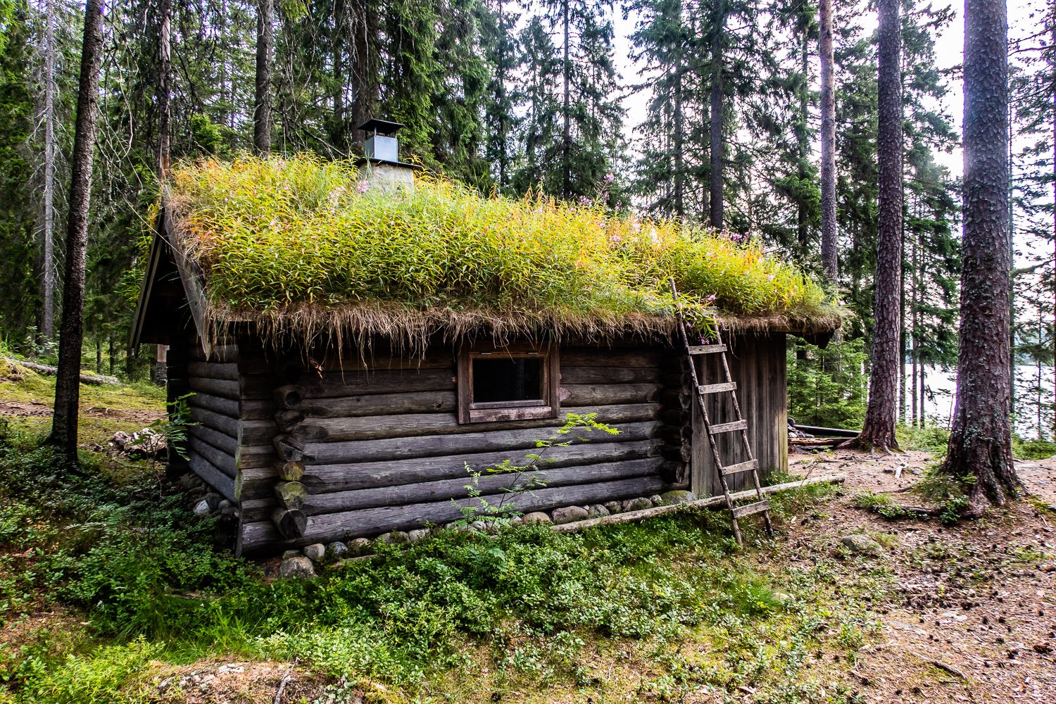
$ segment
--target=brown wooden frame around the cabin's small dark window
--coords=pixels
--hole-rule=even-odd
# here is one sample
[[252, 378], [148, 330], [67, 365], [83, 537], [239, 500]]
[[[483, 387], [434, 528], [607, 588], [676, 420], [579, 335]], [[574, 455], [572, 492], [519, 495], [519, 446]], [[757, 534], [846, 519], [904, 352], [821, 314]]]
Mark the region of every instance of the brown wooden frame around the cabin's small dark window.
[[[510, 359], [543, 358], [543, 398], [528, 401], [473, 402], [473, 360], [484, 357]], [[561, 414], [560, 360], [553, 342], [490, 342], [464, 344], [458, 350], [458, 422], [487, 423], [501, 420], [558, 418]]]

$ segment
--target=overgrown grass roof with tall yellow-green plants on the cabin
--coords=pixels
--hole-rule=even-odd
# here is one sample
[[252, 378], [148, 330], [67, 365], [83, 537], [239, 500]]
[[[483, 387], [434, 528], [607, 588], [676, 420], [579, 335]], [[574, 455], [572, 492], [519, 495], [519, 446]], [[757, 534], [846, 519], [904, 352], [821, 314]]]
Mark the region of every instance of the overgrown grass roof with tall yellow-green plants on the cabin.
[[351, 163], [305, 155], [184, 163], [165, 203], [213, 322], [265, 332], [670, 334], [672, 275], [699, 325], [840, 322], [817, 284], [754, 244], [600, 205], [420, 175], [384, 191]]

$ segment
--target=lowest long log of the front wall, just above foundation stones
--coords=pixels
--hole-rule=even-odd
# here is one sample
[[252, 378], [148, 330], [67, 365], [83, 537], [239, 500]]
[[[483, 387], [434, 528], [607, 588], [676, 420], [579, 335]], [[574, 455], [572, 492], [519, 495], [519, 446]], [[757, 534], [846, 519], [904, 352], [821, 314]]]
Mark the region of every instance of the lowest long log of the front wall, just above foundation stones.
[[[609, 500], [648, 496], [664, 491], [666, 484], [656, 475], [602, 481], [593, 484], [541, 489], [521, 494], [515, 499], [517, 511], [547, 511], [563, 506], [584, 506]], [[489, 503], [497, 503], [498, 495], [483, 496]], [[479, 506], [478, 499], [464, 499], [460, 506]], [[271, 521], [243, 526], [243, 554], [279, 552], [286, 548], [313, 543], [341, 540], [346, 536], [379, 535], [397, 530], [409, 530], [428, 524], [447, 524], [461, 517], [457, 506], [451, 501], [411, 503], [399, 507], [380, 507], [341, 513], [309, 516], [304, 536], [284, 540]]]

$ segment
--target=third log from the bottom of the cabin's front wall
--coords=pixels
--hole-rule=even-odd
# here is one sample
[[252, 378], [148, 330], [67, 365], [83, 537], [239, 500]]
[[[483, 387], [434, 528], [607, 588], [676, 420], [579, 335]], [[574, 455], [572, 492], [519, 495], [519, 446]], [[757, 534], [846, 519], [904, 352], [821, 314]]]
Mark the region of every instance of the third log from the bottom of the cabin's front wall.
[[[303, 467], [297, 480], [307, 487], [310, 493], [321, 494], [458, 477], [466, 478], [468, 476], [466, 473], [467, 464], [483, 472], [507, 459], [515, 465], [534, 462], [541, 469], [644, 459], [659, 456], [660, 446], [661, 441], [658, 439], [610, 442], [609, 438], [597, 438], [596, 441], [577, 441], [576, 444], [567, 448], [550, 448], [542, 452], [532, 443], [531, 446], [520, 451], [352, 464], [308, 464]], [[541, 452], [544, 460], [536, 461], [526, 457], [527, 454], [540, 454]], [[242, 471], [242, 474], [244, 483], [263, 482], [270, 486], [280, 478], [279, 470], [274, 465], [246, 469]]]

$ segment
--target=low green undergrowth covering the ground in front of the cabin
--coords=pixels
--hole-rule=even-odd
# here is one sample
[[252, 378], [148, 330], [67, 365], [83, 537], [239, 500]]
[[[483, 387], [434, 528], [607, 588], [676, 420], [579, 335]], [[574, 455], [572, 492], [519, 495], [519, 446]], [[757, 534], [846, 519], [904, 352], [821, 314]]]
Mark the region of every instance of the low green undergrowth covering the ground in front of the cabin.
[[[234, 655], [300, 658], [372, 702], [738, 686], [806, 702], [787, 692], [809, 652], [853, 648], [870, 628], [861, 609], [818, 606], [825, 574], [760, 569], [753, 556], [774, 546], [759, 521], [742, 522], [740, 552], [721, 512], [577, 534], [441, 531], [284, 581], [214, 549], [213, 525], [150, 468], [115, 483], [8, 430], [0, 470], [0, 621], [21, 633], [0, 657], [0, 701], [144, 701], [158, 667]], [[775, 496], [774, 516], [833, 491]], [[41, 611], [67, 617], [34, 625]]]

